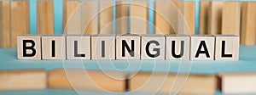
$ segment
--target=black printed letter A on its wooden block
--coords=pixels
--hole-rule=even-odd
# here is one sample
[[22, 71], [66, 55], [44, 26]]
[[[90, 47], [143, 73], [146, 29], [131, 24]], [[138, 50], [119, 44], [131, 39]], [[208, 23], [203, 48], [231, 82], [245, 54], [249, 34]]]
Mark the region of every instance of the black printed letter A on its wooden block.
[[[202, 48], [202, 47], [204, 48], [205, 51], [201, 51], [201, 48]], [[210, 58], [210, 54], [209, 54], [209, 52], [208, 52], [207, 44], [206, 44], [205, 41], [201, 41], [201, 43], [200, 43], [200, 45], [199, 45], [199, 48], [198, 48], [198, 50], [197, 50], [197, 52], [196, 52], [196, 54], [195, 54], [195, 58], [198, 58], [200, 53], [206, 53], [207, 58]]]

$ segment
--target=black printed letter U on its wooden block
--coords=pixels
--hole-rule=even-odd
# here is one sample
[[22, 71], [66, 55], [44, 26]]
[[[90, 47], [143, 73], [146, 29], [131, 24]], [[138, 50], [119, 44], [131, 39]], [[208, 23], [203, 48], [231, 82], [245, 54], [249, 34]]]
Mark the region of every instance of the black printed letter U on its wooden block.
[[175, 41], [172, 41], [172, 56], [174, 58], [181, 58], [183, 57], [183, 53], [184, 53], [184, 41], [181, 41], [181, 52], [179, 55], [175, 53]]

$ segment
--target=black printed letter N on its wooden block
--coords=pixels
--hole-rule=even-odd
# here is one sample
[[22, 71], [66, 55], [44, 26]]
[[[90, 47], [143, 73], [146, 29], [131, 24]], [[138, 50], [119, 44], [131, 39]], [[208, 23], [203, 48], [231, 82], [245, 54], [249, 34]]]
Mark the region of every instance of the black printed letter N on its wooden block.
[[125, 40], [122, 40], [122, 57], [125, 57], [125, 48], [127, 49], [128, 53], [130, 53], [131, 57], [134, 57], [134, 40], [131, 40], [131, 48], [129, 48]]

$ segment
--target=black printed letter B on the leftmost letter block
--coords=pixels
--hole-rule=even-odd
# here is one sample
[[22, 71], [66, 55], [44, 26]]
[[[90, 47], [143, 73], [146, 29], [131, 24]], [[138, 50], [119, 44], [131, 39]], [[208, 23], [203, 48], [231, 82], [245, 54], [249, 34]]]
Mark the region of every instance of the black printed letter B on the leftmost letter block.
[[[31, 43], [32, 46], [27, 47], [26, 43]], [[34, 47], [35, 47], [35, 42], [34, 41], [32, 41], [32, 40], [23, 40], [23, 57], [33, 57], [33, 56], [35, 56], [37, 51]], [[26, 53], [27, 49], [32, 50], [32, 53]]]

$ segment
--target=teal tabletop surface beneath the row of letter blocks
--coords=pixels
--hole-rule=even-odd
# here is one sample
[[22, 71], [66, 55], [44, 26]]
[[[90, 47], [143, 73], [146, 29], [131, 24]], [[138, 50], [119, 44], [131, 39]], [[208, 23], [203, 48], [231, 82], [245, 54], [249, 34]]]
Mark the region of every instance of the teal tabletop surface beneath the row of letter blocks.
[[[239, 61], [178, 61], [178, 60], [19, 60], [16, 48], [0, 49], [0, 70], [45, 69], [71, 67], [87, 70], [122, 71], [169, 71], [190, 72], [194, 74], [216, 74], [218, 72], [256, 72], [256, 46], [241, 46]], [[103, 65], [102, 65], [103, 64]], [[133, 67], [132, 67], [133, 66]], [[138, 67], [136, 67], [138, 66]], [[132, 68], [131, 68], [132, 67]], [[136, 69], [133, 69], [136, 67]], [[104, 94], [104, 92], [84, 92], [85, 94]], [[72, 90], [46, 89], [29, 91], [1, 91], [0, 95], [73, 95]], [[221, 94], [217, 91], [216, 94]]]

